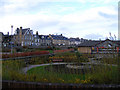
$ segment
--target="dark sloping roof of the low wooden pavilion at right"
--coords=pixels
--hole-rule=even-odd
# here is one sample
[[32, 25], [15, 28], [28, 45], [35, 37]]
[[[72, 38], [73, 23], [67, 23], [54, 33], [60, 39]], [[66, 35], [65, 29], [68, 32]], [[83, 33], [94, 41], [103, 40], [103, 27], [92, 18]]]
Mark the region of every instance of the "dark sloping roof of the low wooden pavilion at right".
[[[111, 41], [111, 40], [109, 40], [109, 39], [106, 39], [106, 40], [93, 40], [93, 41], [90, 40], [90, 41], [86, 41], [84, 43], [81, 43], [79, 45], [79, 47], [94, 47], [94, 46], [96, 46], [96, 45], [98, 45], [98, 44], [100, 44], [102, 42], [105, 42], [105, 41]], [[118, 44], [120, 46], [120, 40], [119, 41], [111, 41], [111, 42], [114, 42], [114, 43], [116, 43], [116, 44]]]

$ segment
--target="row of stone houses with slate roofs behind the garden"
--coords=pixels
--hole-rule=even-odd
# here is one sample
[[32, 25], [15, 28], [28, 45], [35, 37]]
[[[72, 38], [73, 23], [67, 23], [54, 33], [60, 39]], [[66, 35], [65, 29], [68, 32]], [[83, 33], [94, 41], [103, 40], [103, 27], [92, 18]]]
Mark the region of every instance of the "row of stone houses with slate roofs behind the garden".
[[11, 46], [78, 46], [82, 42], [88, 41], [87, 39], [67, 38], [60, 35], [39, 35], [38, 31], [33, 34], [30, 28], [17, 28], [14, 35], [2, 34], [3, 47]]

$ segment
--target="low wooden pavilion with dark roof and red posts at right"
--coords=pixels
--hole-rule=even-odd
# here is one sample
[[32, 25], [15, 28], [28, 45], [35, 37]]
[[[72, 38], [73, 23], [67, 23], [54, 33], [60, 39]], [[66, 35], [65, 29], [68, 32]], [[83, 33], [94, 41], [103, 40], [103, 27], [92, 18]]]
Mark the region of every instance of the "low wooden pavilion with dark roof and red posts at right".
[[120, 53], [120, 41], [87, 41], [78, 46], [80, 53]]

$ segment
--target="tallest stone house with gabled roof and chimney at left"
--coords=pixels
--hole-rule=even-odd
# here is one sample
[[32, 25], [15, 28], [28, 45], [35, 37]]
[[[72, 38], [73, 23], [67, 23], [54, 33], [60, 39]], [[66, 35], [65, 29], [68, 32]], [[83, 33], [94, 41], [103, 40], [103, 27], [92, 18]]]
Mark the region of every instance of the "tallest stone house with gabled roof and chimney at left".
[[34, 44], [33, 30], [30, 30], [30, 28], [17, 28], [14, 40], [14, 44], [17, 46], [32, 46]]

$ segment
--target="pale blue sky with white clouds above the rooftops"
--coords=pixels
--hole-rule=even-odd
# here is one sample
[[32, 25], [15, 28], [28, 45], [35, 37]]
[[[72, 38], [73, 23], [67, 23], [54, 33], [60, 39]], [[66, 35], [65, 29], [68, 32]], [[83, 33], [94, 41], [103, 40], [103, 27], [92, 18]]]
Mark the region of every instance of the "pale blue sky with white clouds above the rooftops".
[[[118, 37], [119, 0], [0, 0], [0, 32], [30, 28], [68, 38]], [[13, 33], [14, 33], [13, 32]]]

